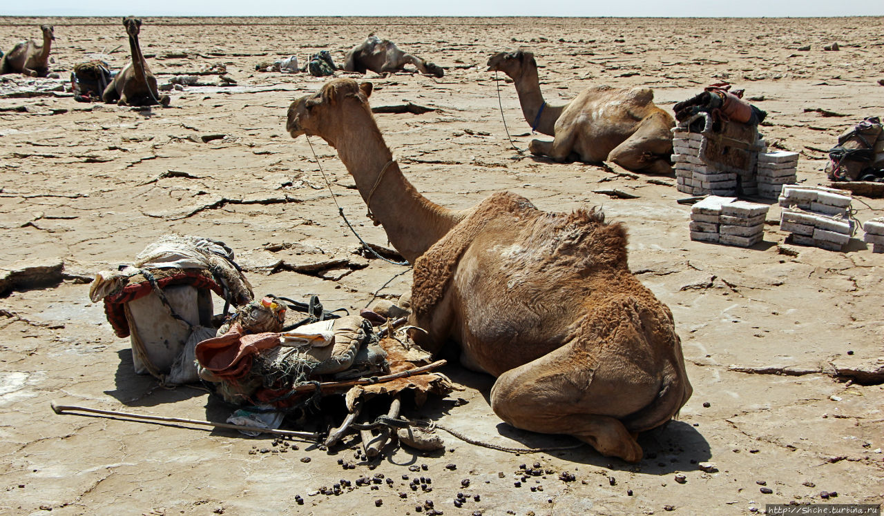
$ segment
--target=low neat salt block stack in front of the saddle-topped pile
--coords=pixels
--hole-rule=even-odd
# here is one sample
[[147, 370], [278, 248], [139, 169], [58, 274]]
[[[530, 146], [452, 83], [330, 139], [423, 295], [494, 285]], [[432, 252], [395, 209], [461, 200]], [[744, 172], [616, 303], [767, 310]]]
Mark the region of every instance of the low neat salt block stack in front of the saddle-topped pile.
[[764, 238], [768, 207], [710, 195], [690, 209], [690, 239], [751, 247]]

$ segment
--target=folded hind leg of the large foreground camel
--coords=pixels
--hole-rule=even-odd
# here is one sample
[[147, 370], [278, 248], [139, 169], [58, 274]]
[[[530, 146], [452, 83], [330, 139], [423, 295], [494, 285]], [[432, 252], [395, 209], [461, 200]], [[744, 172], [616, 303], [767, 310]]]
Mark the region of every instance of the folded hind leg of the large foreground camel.
[[643, 404], [630, 392], [648, 391], [647, 385], [595, 378], [603, 375], [582, 367], [585, 361], [568, 347], [500, 375], [492, 388], [492, 410], [516, 428], [575, 436], [603, 455], [641, 460], [642, 447], [612, 414], [626, 415]]

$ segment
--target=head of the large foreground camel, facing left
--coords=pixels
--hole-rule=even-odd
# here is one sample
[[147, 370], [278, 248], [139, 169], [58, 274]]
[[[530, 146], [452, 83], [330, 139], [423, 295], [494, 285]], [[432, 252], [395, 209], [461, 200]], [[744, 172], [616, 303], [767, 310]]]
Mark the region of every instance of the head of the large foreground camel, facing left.
[[301, 134], [319, 136], [334, 147], [336, 127], [347, 121], [347, 111], [362, 109], [371, 114], [368, 98], [370, 82], [357, 84], [352, 79], [335, 79], [324, 84], [313, 95], [304, 95], [288, 108], [286, 131], [297, 138]]

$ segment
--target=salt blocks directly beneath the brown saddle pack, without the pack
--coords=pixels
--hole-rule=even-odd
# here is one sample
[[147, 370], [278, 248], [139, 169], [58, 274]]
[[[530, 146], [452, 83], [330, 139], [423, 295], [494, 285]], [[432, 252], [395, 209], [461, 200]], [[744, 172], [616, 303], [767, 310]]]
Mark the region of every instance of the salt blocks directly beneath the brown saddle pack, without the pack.
[[718, 171], [700, 157], [702, 134], [690, 133], [684, 127], [675, 127], [672, 134], [675, 187], [679, 192], [691, 195], [736, 193], [736, 173]]

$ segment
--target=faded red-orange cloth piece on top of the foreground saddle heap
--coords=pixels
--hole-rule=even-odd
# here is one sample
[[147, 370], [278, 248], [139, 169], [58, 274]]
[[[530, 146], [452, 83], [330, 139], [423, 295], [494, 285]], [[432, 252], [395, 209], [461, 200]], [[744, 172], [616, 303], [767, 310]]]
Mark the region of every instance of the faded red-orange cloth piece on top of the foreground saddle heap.
[[196, 345], [196, 360], [213, 375], [225, 380], [241, 378], [252, 368], [252, 355], [279, 345], [278, 333], [243, 335], [239, 322], [221, 337], [207, 338]]

